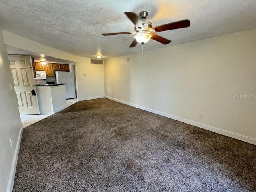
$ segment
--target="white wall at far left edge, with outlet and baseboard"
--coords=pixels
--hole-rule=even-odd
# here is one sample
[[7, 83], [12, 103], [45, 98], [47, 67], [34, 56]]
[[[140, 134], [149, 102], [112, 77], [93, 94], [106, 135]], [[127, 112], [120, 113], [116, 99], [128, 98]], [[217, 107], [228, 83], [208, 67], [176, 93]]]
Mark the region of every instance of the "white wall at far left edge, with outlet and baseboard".
[[[22, 134], [18, 102], [0, 29], [0, 191], [11, 191]], [[12, 147], [10, 145], [12, 138]]]

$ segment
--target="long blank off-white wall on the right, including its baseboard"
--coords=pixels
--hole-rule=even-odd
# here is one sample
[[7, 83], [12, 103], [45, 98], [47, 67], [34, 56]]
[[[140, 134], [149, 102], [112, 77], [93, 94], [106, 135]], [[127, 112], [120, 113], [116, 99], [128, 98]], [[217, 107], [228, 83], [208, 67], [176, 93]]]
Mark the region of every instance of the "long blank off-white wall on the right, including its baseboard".
[[143, 58], [138, 53], [105, 60], [105, 95], [256, 144], [256, 98], [233, 98], [256, 97], [255, 34], [247, 30], [147, 51]]

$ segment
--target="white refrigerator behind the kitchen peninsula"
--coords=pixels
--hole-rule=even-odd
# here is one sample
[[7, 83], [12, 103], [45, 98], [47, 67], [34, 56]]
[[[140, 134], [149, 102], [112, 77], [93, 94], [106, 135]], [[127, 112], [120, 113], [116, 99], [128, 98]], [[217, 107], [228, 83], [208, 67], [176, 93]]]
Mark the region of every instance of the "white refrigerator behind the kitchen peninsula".
[[56, 83], [66, 83], [66, 98], [76, 98], [74, 80], [72, 79], [71, 72], [68, 71], [55, 71]]

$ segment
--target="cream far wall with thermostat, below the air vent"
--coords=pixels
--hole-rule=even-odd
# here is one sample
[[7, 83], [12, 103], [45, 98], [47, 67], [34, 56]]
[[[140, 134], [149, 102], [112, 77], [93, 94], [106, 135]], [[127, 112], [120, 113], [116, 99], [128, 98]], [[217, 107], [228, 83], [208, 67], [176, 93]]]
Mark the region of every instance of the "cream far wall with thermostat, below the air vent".
[[104, 97], [104, 66], [90, 62], [90, 58], [79, 57], [76, 63], [78, 101]]

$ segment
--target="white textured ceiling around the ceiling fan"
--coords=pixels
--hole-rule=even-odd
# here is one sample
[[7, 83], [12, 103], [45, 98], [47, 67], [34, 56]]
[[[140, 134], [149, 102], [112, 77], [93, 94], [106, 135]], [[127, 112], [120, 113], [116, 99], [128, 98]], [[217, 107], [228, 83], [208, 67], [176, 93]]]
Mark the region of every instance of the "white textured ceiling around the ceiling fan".
[[[101, 54], [106, 59], [142, 51], [141, 44], [129, 48], [134, 35], [102, 33], [134, 31], [124, 12], [144, 10], [153, 26], [191, 22], [189, 28], [158, 33], [172, 40], [170, 44], [151, 39], [144, 50], [256, 28], [255, 0], [2, 0], [0, 26], [70, 54], [90, 58]], [[9, 47], [8, 53], [15, 54], [14, 50]]]

